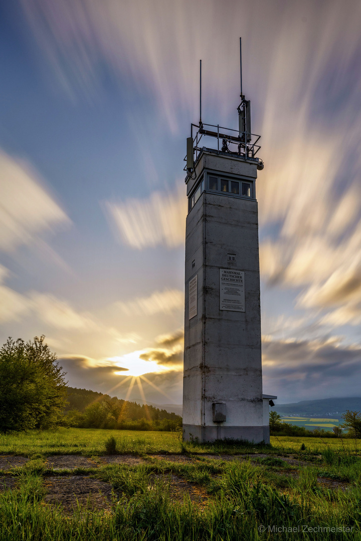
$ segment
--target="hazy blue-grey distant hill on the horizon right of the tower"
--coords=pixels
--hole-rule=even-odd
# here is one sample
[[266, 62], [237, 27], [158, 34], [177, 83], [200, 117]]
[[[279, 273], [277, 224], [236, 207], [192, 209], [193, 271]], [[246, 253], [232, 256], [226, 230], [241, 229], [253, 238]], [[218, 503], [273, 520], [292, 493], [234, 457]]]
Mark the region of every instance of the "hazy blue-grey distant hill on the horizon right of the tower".
[[280, 415], [302, 417], [327, 417], [340, 415], [346, 410], [361, 411], [361, 398], [324, 398], [322, 400], [303, 400], [293, 404], [276, 404], [272, 410]]

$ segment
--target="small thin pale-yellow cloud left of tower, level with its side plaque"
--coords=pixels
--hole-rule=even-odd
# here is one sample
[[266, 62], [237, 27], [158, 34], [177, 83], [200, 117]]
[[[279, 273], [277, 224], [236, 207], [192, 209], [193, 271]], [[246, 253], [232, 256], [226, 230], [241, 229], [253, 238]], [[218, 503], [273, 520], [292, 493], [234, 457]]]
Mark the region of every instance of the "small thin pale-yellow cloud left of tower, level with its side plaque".
[[155, 291], [148, 297], [139, 297], [128, 302], [115, 302], [116, 311], [127, 315], [169, 314], [184, 308], [184, 293], [178, 289]]

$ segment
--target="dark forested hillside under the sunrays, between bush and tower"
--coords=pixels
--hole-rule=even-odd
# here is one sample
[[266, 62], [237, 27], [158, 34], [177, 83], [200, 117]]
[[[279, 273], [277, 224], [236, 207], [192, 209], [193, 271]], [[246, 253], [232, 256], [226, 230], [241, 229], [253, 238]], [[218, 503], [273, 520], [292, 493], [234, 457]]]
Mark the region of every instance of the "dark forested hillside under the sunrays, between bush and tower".
[[67, 401], [64, 410], [66, 426], [161, 431], [182, 426], [182, 418], [176, 413], [87, 389], [67, 387]]

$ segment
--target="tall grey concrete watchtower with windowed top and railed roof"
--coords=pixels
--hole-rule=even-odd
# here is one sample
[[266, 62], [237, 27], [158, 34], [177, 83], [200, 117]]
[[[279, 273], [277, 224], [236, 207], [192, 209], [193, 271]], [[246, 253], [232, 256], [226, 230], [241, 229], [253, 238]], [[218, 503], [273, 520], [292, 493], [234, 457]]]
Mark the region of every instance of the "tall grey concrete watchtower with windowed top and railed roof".
[[[241, 100], [239, 130], [200, 120], [187, 139], [186, 440], [269, 443], [268, 404], [277, 398], [262, 395], [255, 180], [263, 163], [250, 102]], [[213, 145], [200, 146], [206, 137]]]

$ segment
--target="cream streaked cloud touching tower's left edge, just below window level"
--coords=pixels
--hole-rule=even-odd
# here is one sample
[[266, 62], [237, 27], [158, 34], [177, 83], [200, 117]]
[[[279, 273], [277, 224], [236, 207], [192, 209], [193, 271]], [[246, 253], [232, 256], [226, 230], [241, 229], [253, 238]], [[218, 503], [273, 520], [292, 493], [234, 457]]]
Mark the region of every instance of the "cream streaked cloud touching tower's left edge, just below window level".
[[174, 248], [185, 239], [187, 200], [183, 191], [179, 187], [176, 192], [154, 192], [148, 199], [107, 202], [104, 208], [124, 244], [137, 249]]

